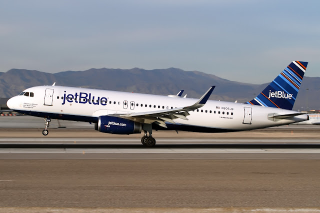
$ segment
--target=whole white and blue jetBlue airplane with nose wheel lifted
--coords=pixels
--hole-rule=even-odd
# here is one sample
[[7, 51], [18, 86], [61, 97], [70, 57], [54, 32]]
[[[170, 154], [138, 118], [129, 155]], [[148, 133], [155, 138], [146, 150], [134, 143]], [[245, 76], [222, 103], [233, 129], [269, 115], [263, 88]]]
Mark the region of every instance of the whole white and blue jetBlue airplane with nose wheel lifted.
[[[308, 62], [292, 61], [261, 93], [246, 103], [208, 100], [214, 86], [199, 99], [52, 85], [34, 86], [11, 97], [7, 106], [51, 119], [94, 123], [112, 134], [141, 133], [141, 143], [154, 146], [152, 130], [232, 132], [308, 120], [292, 111]], [[178, 96], [178, 95], [174, 95]]]

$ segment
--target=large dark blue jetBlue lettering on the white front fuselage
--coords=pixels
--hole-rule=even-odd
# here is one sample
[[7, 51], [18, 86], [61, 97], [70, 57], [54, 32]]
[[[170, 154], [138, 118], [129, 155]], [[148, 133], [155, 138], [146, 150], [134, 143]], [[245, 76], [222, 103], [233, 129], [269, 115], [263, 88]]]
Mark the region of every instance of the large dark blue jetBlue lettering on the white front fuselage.
[[106, 97], [99, 97], [94, 96], [91, 93], [85, 93], [85, 92], [75, 92], [74, 94], [66, 94], [66, 91], [64, 91], [63, 94], [63, 100], [62, 105], [65, 104], [65, 102], [76, 102], [76, 103], [88, 103], [88, 104], [94, 104], [94, 105], [106, 105]]

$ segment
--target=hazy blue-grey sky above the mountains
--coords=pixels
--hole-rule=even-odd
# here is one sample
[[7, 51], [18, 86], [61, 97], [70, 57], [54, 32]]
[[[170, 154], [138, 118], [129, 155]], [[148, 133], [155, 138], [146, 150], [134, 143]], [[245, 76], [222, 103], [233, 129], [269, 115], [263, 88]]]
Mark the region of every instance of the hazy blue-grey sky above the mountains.
[[0, 71], [176, 67], [269, 82], [320, 76], [318, 0], [0, 0]]

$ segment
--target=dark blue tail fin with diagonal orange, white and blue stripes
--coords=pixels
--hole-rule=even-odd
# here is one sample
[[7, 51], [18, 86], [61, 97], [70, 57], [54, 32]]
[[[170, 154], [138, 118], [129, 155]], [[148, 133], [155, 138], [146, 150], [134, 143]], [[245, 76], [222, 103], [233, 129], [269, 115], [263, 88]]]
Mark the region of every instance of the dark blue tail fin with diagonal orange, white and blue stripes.
[[292, 61], [258, 96], [246, 103], [292, 110], [307, 64]]

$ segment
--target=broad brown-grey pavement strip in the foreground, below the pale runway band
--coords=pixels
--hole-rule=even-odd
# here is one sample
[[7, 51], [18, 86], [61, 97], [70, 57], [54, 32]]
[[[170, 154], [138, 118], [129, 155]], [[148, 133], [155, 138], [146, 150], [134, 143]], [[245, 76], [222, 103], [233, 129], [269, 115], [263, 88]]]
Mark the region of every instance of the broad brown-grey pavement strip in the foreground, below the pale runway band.
[[319, 207], [319, 160], [0, 160], [0, 206]]

